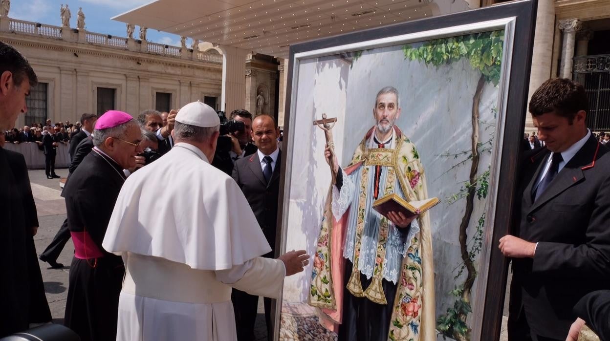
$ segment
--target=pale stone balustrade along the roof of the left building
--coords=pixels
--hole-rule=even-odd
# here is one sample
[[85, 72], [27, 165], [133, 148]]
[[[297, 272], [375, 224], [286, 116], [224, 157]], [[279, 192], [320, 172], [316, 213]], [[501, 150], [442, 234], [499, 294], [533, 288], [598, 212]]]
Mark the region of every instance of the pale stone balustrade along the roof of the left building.
[[17, 20], [9, 17], [0, 17], [0, 31], [59, 39], [73, 43], [106, 46], [113, 49], [159, 54], [165, 57], [195, 60], [198, 62], [223, 63], [223, 56], [220, 54], [193, 51], [192, 49], [182, 49], [178, 46], [162, 45], [132, 38], [114, 37], [112, 35], [71, 29], [70, 27], [32, 23], [31, 21]]

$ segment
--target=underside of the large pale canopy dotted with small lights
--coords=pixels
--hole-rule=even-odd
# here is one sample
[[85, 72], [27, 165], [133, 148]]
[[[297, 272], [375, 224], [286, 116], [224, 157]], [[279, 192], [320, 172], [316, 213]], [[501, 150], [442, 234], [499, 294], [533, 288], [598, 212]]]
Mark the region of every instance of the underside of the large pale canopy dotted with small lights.
[[467, 8], [464, 0], [157, 0], [113, 19], [287, 58], [293, 43]]

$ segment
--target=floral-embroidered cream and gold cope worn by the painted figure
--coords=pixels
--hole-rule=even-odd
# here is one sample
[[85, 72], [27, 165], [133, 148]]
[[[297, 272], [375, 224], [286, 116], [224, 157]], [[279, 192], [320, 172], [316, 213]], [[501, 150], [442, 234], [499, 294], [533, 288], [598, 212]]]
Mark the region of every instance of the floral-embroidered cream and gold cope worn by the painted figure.
[[[362, 245], [362, 234], [365, 228], [364, 217], [366, 195], [371, 193], [368, 186], [369, 165], [387, 167], [386, 186], [380, 189], [382, 195], [395, 192], [394, 184], [400, 185], [405, 199], [421, 200], [428, 198], [426, 192], [425, 174], [415, 145], [398, 129], [395, 129], [397, 142], [394, 149], [367, 148], [367, 140], [374, 132], [374, 127], [368, 131], [359, 144], [350, 162], [344, 168], [346, 174], [351, 174], [362, 168], [361, 181], [356, 184], [356, 195], [359, 195], [357, 207], [354, 204], [348, 209], [357, 209], [356, 242], [352, 276], [343, 278], [343, 244], [345, 241], [346, 216], [339, 221], [332, 215], [332, 186], [329, 191], [324, 216], [318, 237], [317, 251], [314, 257], [312, 284], [310, 287], [310, 305], [321, 308], [323, 320], [334, 324], [342, 318], [343, 290], [357, 297], [364, 297], [378, 304], [392, 304], [392, 319], [389, 328], [390, 340], [436, 340], [434, 316], [434, 270], [432, 264], [432, 237], [428, 214], [418, 218], [420, 231], [414, 235], [400, 265], [397, 293], [393, 302], [386, 302], [381, 282], [383, 279], [384, 262], [376, 262], [371, 284], [362, 287], [360, 271], [358, 270], [359, 252]], [[397, 181], [398, 180], [398, 181]], [[369, 201], [370, 202], [370, 201]], [[386, 242], [389, 221], [381, 218], [376, 247], [376, 259], [386, 257]]]

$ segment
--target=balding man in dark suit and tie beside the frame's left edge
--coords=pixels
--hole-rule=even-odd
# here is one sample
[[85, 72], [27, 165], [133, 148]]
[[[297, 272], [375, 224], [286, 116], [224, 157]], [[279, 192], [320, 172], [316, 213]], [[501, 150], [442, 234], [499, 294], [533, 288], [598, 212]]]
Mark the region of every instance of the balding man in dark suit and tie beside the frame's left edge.
[[[274, 257], [276, 224], [278, 220], [279, 171], [282, 152], [278, 148], [278, 127], [272, 117], [260, 115], [252, 123], [252, 138], [258, 146], [257, 153], [235, 162], [233, 179], [242, 188], [271, 251], [265, 257]], [[234, 289], [231, 294], [235, 310], [237, 340], [254, 340], [258, 296]], [[271, 337], [271, 299], [265, 298], [265, 320]]]

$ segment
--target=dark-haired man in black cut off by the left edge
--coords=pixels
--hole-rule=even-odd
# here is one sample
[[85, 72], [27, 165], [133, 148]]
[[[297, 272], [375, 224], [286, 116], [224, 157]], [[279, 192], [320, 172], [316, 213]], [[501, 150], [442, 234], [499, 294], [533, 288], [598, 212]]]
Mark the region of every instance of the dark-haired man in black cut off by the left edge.
[[[27, 111], [26, 96], [37, 82], [27, 60], [0, 42], [0, 131], [15, 126], [20, 113]], [[29, 216], [31, 193], [19, 185], [27, 172], [23, 156], [7, 152], [0, 148], [0, 338], [24, 331], [32, 321], [27, 229], [33, 232], [37, 224]]]

